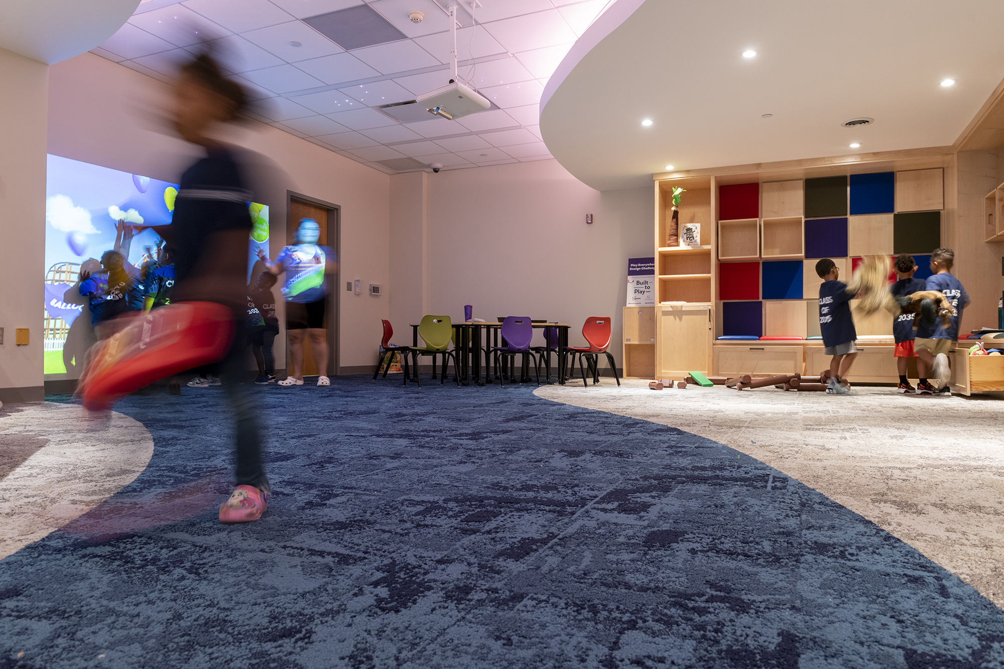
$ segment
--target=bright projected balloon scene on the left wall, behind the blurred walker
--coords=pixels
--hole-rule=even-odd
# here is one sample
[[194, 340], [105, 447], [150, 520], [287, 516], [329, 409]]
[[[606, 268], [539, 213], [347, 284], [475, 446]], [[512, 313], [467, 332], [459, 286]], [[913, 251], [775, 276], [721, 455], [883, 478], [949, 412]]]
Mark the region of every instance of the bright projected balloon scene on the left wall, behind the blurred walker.
[[[153, 230], [169, 225], [178, 185], [48, 156], [45, 192], [45, 374], [79, 378], [111, 318], [170, 300], [170, 257]], [[268, 207], [248, 204], [248, 280], [268, 254]], [[105, 330], [106, 331], [106, 330]]]

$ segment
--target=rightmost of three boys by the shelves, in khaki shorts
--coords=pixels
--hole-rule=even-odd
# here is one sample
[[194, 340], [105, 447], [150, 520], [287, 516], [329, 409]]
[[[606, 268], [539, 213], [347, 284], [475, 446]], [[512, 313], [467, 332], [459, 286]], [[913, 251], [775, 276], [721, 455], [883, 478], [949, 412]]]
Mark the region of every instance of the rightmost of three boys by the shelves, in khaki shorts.
[[952, 371], [946, 352], [951, 350], [952, 345], [959, 339], [962, 309], [969, 304], [969, 293], [962, 286], [962, 282], [952, 275], [954, 264], [955, 251], [950, 248], [936, 248], [931, 253], [931, 271], [934, 274], [928, 277], [925, 289], [937, 290], [945, 295], [952, 303], [955, 314], [951, 316], [947, 328], [942, 327], [941, 321], [938, 320], [930, 324], [921, 320], [917, 324], [917, 371], [922, 377], [932, 375], [938, 380], [938, 388], [935, 388], [926, 378], [921, 379], [921, 383], [917, 385], [918, 395], [952, 393], [949, 387]]

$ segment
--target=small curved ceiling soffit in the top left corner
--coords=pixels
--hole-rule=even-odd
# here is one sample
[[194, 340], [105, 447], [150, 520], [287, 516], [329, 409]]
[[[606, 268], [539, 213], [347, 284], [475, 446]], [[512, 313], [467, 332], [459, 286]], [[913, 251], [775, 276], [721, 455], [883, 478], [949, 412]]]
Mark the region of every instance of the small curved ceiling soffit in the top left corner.
[[139, 6], [140, 0], [5, 0], [0, 47], [51, 65], [104, 42]]

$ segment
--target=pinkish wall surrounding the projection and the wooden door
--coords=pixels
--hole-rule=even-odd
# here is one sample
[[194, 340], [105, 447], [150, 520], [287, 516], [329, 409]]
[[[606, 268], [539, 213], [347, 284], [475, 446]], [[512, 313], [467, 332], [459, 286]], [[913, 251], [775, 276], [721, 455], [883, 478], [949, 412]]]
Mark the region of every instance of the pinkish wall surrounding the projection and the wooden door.
[[[49, 153], [164, 180], [177, 180], [196, 157], [190, 145], [163, 132], [163, 122], [157, 120], [168, 108], [165, 83], [92, 53], [51, 65], [49, 76]], [[269, 157], [286, 173], [286, 183], [276, 184], [264, 203], [271, 208], [273, 240], [285, 239], [287, 190], [341, 207], [339, 363], [344, 372], [370, 366], [388, 299], [346, 292], [344, 281], [390, 282], [385, 250], [391, 178], [263, 124], [252, 124], [233, 141]], [[282, 364], [280, 340], [275, 353]]]

